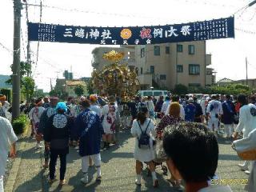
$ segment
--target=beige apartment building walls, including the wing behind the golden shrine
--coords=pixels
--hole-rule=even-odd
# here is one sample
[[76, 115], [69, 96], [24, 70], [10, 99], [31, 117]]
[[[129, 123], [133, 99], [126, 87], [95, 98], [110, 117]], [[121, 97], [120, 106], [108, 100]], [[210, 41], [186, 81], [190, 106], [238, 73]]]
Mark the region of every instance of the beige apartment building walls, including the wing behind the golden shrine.
[[[177, 46], [182, 46], [182, 52], [177, 51]], [[154, 54], [154, 47], [160, 47], [160, 55]], [[194, 46], [194, 54], [189, 54], [189, 46]], [[169, 47], [169, 48], [166, 48]], [[169, 49], [166, 52], [166, 49]], [[102, 70], [104, 65], [109, 65], [102, 55], [110, 50], [122, 51], [125, 57], [122, 62], [137, 71], [138, 80], [142, 89], [156, 86], [162, 89], [174, 89], [176, 84], [185, 86], [206, 86], [212, 77], [206, 76], [206, 66], [211, 64], [211, 55], [206, 54], [206, 42], [178, 42], [142, 46], [98, 47], [92, 51], [94, 56], [92, 66], [94, 70]], [[142, 55], [142, 50], [145, 54]], [[199, 65], [199, 74], [190, 74], [190, 64]], [[182, 66], [182, 72], [177, 72], [177, 65]], [[154, 67], [154, 71], [152, 68]], [[165, 76], [166, 79], [163, 79]], [[208, 80], [207, 80], [208, 79]], [[207, 81], [207, 82], [206, 82]]]

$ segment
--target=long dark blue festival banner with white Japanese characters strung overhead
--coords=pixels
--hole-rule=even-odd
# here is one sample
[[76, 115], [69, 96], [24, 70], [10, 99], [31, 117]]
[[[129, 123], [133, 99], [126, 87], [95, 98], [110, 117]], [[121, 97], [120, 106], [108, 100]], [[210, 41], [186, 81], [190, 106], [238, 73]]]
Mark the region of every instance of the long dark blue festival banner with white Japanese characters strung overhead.
[[28, 24], [29, 41], [146, 45], [234, 38], [234, 17], [166, 26], [60, 26]]

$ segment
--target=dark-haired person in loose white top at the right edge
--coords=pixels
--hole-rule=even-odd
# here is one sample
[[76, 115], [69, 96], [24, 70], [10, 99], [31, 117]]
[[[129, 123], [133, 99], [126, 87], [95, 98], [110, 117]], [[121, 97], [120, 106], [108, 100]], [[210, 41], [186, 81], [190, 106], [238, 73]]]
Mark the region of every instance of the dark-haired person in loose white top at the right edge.
[[[243, 138], [247, 138], [250, 131], [256, 128], [256, 106], [249, 103], [245, 95], [238, 95], [238, 102], [241, 103], [239, 110], [239, 123], [234, 133], [234, 138], [238, 137], [238, 133], [243, 133]], [[244, 164], [239, 164], [242, 170], [246, 171], [246, 174], [250, 174], [248, 166], [249, 162], [245, 161]]]

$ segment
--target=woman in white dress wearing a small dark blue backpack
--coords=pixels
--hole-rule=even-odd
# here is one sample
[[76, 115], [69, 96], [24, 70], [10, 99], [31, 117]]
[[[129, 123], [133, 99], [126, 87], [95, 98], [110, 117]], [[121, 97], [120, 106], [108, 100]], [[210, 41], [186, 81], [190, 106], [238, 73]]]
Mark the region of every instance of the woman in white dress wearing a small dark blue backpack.
[[[148, 118], [149, 111], [146, 106], [142, 106], [134, 120], [131, 128], [131, 134], [135, 138], [134, 158], [136, 160], [136, 174], [137, 178], [135, 183], [140, 186], [142, 178], [142, 162], [146, 162], [150, 166], [150, 171], [153, 178], [153, 186], [158, 186], [158, 178], [155, 173], [155, 166], [153, 160], [155, 159], [154, 149], [154, 124]], [[148, 139], [148, 140], [147, 140]], [[148, 141], [147, 143], [145, 143]]]

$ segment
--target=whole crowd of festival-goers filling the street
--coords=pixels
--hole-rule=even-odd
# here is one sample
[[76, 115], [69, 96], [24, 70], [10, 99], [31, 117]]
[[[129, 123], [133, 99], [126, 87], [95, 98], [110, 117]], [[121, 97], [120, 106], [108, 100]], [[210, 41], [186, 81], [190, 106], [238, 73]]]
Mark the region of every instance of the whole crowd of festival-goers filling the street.
[[[3, 96], [0, 101], [0, 124], [6, 131], [0, 131], [0, 142], [4, 143], [0, 145], [0, 158], [4, 157], [1, 160], [6, 162], [7, 141], [2, 138], [9, 138], [11, 143], [17, 138], [6, 120], [10, 104]], [[89, 182], [88, 168], [93, 165], [97, 169], [96, 181], [101, 181], [101, 150], [118, 145], [120, 130], [130, 130], [135, 140], [136, 185], [142, 184], [142, 168], [146, 165], [153, 186], [158, 187], [155, 169], [159, 162], [161, 165], [165, 162], [170, 171], [168, 182], [174, 187], [185, 185], [186, 191], [200, 192], [231, 191], [229, 186], [209, 184], [218, 166], [218, 137], [224, 135], [230, 142], [239, 137], [248, 138], [256, 128], [255, 101], [254, 96], [241, 94], [238, 97], [211, 95], [202, 98], [185, 95], [159, 98], [134, 96], [129, 102], [124, 102], [115, 96], [91, 94], [87, 98], [69, 97], [66, 102], [59, 102], [55, 97], [38, 98], [30, 105], [22, 105], [21, 110], [30, 118], [30, 137], [36, 138], [35, 148], [44, 146], [43, 166], [49, 168], [49, 182], [56, 180], [55, 166], [59, 158], [59, 184], [66, 183], [66, 156], [70, 146], [77, 148], [82, 158], [84, 175], [81, 182]], [[14, 144], [10, 151], [14, 157]], [[239, 166], [250, 174], [250, 186], [253, 186], [250, 189], [256, 189], [256, 177], [253, 175], [255, 164], [246, 161]], [[4, 167], [5, 164], [0, 167], [1, 182]]]

